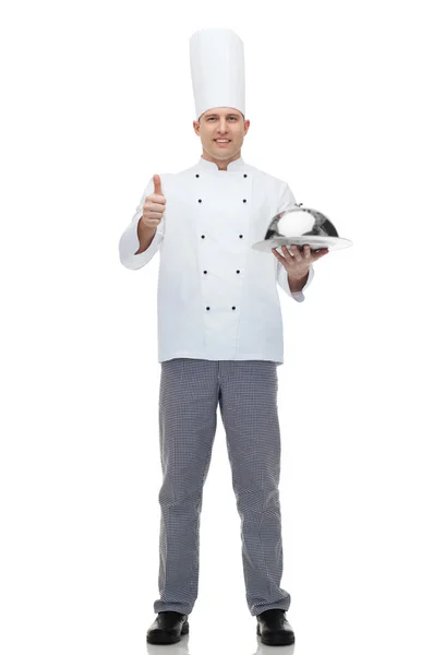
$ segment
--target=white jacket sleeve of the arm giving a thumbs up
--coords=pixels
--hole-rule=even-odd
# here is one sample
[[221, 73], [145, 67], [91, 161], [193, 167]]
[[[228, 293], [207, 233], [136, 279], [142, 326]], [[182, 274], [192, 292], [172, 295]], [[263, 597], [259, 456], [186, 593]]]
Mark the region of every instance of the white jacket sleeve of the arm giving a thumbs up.
[[137, 238], [137, 224], [140, 222], [140, 218], [142, 217], [144, 202], [146, 196], [151, 195], [154, 192], [154, 190], [155, 184], [152, 178], [144, 189], [144, 193], [142, 194], [141, 201], [136, 207], [133, 218], [131, 219], [131, 223], [127, 226], [119, 240], [119, 259], [121, 264], [125, 266], [125, 269], [132, 269], [135, 271], [137, 269], [142, 269], [142, 266], [145, 266], [145, 264], [147, 264], [153, 259], [154, 254], [159, 250], [160, 243], [164, 239], [165, 215], [163, 216], [159, 225], [157, 226], [155, 236], [148, 248], [144, 250], [144, 252], [134, 254], [140, 248], [140, 240]]

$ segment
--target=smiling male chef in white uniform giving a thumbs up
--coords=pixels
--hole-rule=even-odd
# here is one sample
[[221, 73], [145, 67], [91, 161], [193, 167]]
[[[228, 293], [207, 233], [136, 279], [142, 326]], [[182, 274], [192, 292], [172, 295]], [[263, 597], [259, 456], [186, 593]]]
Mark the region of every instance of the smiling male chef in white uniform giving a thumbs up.
[[[304, 300], [313, 262], [327, 250], [252, 249], [272, 218], [294, 206], [289, 186], [244, 162], [244, 52], [230, 29], [190, 38], [193, 129], [202, 155], [154, 175], [119, 241], [121, 263], [142, 269], [159, 251], [157, 297], [163, 485], [158, 617], [148, 643], [189, 631], [197, 597], [199, 528], [219, 405], [242, 522], [245, 598], [268, 645], [293, 643], [280, 587], [280, 430], [277, 367], [284, 364], [277, 284]], [[224, 565], [224, 561], [216, 562]], [[230, 630], [224, 610], [222, 634]], [[237, 623], [237, 617], [232, 619]]]

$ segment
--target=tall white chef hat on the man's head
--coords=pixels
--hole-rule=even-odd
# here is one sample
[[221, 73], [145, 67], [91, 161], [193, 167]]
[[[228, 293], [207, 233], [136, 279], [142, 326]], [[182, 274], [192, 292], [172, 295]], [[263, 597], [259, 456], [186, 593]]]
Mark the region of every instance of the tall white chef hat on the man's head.
[[231, 29], [207, 28], [190, 38], [196, 120], [214, 107], [233, 107], [245, 117], [244, 47]]

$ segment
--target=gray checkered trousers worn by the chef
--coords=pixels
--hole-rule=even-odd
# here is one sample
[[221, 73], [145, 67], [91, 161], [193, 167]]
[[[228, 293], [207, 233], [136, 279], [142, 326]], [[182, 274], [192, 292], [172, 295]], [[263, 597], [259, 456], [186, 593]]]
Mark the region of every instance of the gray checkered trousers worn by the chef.
[[155, 612], [192, 612], [197, 597], [200, 519], [219, 402], [241, 517], [245, 598], [252, 616], [288, 610], [279, 505], [277, 365], [268, 360], [176, 358], [161, 362], [163, 485], [159, 594]]

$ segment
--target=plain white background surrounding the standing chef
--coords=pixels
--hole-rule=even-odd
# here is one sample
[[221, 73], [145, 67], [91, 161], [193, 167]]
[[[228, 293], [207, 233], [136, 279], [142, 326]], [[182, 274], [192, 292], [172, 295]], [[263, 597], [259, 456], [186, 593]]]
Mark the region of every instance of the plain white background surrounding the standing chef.
[[[353, 242], [315, 264], [303, 303], [279, 289], [281, 585], [294, 652], [443, 655], [440, 4], [2, 11], [2, 652], [147, 652], [159, 255], [129, 271], [118, 241], [153, 174], [201, 155], [189, 38], [220, 26], [244, 43], [243, 158]], [[218, 410], [193, 655], [267, 651], [245, 604], [239, 522]], [[158, 648], [189, 652], [184, 640]]]

